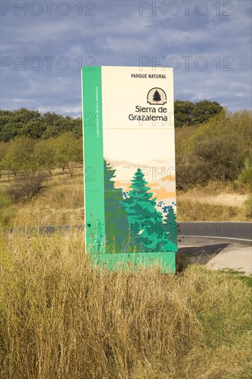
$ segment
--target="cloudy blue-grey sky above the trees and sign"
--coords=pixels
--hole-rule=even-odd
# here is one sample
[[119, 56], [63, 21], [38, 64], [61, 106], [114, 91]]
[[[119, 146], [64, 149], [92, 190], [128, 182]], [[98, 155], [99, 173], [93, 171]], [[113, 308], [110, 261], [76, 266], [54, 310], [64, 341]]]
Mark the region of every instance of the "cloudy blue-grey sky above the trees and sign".
[[81, 112], [81, 65], [174, 67], [175, 99], [251, 108], [251, 1], [1, 1], [1, 109]]

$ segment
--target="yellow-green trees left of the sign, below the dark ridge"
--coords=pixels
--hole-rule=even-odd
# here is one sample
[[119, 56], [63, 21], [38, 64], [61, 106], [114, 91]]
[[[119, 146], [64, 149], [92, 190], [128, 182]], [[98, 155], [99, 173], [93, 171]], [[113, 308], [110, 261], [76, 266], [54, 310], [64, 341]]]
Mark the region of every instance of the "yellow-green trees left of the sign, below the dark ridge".
[[[39, 194], [55, 170], [59, 178], [65, 172], [67, 177], [74, 176], [74, 167], [79, 164], [83, 164], [82, 138], [72, 132], [45, 140], [19, 136], [8, 142], [0, 141], [0, 178], [8, 177], [10, 181], [12, 176], [6, 192], [14, 202], [28, 201]], [[4, 197], [0, 191], [0, 203]]]

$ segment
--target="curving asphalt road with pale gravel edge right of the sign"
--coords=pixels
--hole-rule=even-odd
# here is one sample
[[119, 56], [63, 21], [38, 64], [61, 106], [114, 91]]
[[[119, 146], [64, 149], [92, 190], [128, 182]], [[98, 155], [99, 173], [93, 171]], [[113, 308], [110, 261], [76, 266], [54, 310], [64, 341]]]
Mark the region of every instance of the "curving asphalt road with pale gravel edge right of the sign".
[[179, 223], [177, 263], [252, 274], [252, 223]]

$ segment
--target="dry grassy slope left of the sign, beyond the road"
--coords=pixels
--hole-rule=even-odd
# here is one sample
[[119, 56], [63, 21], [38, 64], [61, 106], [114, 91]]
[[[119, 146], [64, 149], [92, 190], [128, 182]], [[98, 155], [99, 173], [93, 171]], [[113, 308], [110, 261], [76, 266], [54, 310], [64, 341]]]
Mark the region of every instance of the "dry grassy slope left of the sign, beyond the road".
[[[1, 181], [1, 189], [7, 194], [14, 183]], [[4, 227], [26, 227], [34, 225], [80, 225], [83, 223], [83, 174], [76, 167], [74, 176], [70, 173], [54, 172], [52, 178], [44, 183], [45, 189], [29, 202], [3, 204], [5, 220], [0, 216], [0, 225]], [[6, 195], [7, 196], [7, 195]], [[3, 196], [0, 193], [0, 203]], [[6, 202], [5, 202], [6, 203]], [[2, 204], [1, 204], [2, 205]]]

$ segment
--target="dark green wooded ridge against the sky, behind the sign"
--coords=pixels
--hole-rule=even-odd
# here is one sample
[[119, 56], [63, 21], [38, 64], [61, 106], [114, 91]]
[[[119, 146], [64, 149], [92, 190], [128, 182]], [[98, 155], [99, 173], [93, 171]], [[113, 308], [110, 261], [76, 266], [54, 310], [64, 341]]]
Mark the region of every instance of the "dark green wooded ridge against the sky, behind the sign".
[[[175, 126], [200, 125], [222, 111], [216, 101], [203, 100], [196, 103], [176, 100], [174, 103]], [[82, 136], [81, 117], [72, 118], [55, 112], [41, 113], [38, 110], [0, 110], [0, 141], [8, 142], [19, 136], [30, 139], [49, 139], [64, 132]]]

